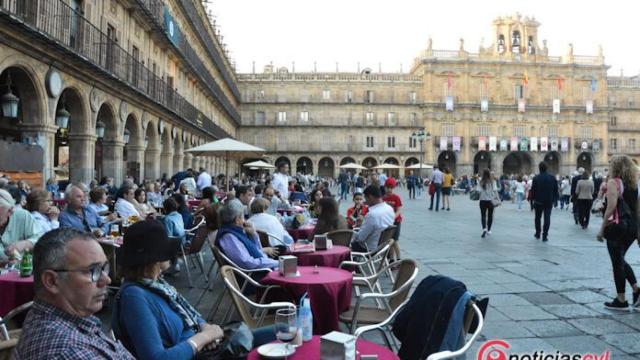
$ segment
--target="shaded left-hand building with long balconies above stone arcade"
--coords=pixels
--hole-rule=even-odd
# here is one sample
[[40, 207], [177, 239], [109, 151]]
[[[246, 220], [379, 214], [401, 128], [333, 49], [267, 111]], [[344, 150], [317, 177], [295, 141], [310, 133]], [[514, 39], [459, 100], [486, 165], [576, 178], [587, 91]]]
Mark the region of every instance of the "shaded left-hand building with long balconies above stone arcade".
[[[0, 1], [0, 84], [17, 99], [3, 149], [43, 149], [44, 179], [220, 172], [185, 150], [240, 123], [235, 71], [199, 1]], [[20, 170], [11, 157], [0, 170]]]

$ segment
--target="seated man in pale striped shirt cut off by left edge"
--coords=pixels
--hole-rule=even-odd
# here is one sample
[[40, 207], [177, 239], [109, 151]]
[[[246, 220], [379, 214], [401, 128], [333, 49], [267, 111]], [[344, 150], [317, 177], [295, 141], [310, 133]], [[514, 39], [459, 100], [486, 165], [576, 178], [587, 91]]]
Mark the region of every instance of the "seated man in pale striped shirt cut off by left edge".
[[16, 208], [15, 199], [0, 189], [0, 263], [12, 258], [15, 252], [32, 249], [42, 231], [33, 216]]

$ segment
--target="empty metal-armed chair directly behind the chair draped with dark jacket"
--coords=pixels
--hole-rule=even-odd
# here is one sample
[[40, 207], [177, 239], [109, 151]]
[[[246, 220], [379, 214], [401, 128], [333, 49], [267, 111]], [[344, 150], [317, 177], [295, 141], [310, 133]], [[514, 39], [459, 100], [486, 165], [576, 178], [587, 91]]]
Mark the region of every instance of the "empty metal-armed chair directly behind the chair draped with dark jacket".
[[[356, 303], [349, 310], [340, 314], [340, 321], [346, 323], [352, 332], [358, 322], [364, 324], [377, 324], [383, 322], [408, 298], [413, 281], [418, 276], [418, 266], [413, 260], [405, 259], [385, 266], [380, 272], [386, 272], [389, 267], [398, 268], [398, 278], [389, 293], [364, 293], [356, 297]], [[383, 307], [365, 306], [366, 300], [382, 300]]]

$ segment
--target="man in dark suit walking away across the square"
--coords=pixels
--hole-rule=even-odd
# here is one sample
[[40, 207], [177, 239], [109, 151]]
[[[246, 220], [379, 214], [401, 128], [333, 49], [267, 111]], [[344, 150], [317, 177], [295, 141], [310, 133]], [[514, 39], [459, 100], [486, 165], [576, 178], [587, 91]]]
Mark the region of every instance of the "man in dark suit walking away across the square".
[[558, 181], [547, 173], [547, 163], [542, 161], [538, 165], [540, 173], [533, 178], [531, 185], [533, 207], [536, 213], [535, 227], [536, 233], [533, 235], [540, 239], [540, 220], [544, 214], [544, 227], [542, 229], [542, 241], [549, 240], [549, 226], [551, 225], [551, 209], [558, 198]]

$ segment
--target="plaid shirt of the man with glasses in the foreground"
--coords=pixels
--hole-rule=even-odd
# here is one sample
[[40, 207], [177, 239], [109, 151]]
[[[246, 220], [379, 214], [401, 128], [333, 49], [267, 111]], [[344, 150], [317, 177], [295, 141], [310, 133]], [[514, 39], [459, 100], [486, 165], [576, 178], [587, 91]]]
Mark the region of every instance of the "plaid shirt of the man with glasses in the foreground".
[[134, 359], [100, 326], [95, 316], [78, 317], [36, 300], [13, 352], [14, 359]]

